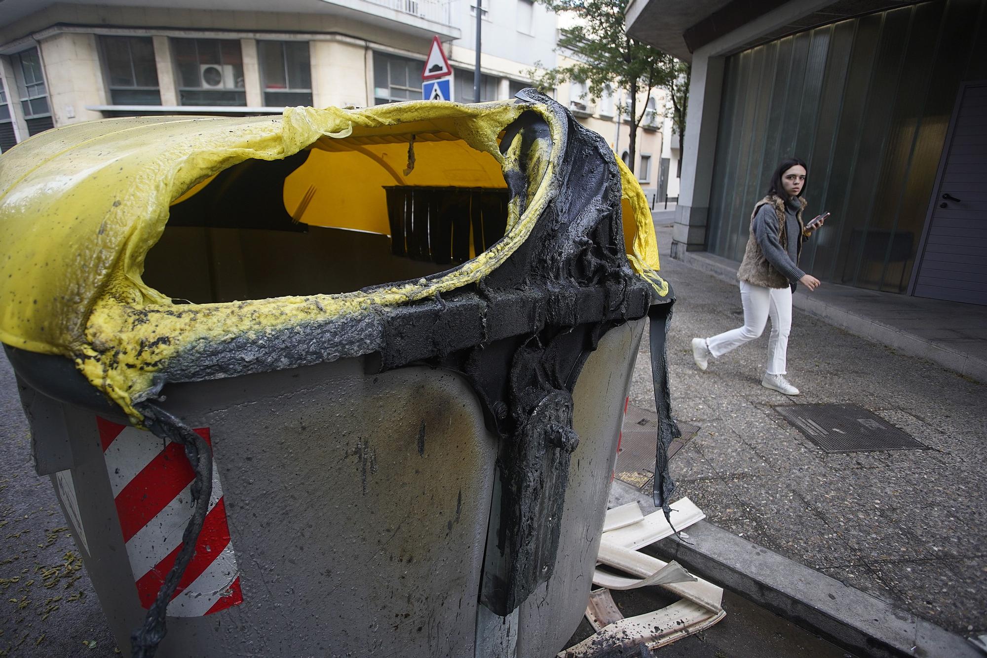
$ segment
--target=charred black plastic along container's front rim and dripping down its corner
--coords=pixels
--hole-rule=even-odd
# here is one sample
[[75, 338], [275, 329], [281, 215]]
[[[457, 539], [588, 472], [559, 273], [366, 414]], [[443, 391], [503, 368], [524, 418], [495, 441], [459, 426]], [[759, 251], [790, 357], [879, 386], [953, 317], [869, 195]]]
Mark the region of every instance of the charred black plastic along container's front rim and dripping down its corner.
[[[531, 111], [505, 130], [504, 148], [516, 135], [521, 137], [521, 169], [505, 174], [518, 211], [523, 212], [528, 202], [527, 164], [544, 157], [553, 145], [563, 156], [550, 184], [551, 201], [531, 235], [485, 280], [416, 303], [374, 307], [363, 316], [313, 323], [305, 332], [196, 345], [194, 351], [166, 364], [159, 382], [167, 392], [169, 380], [294, 368], [323, 362], [329, 354], [340, 358], [366, 355], [368, 370], [427, 364], [463, 374], [483, 405], [488, 427], [500, 437], [497, 491], [480, 593], [484, 605], [500, 616], [510, 614], [552, 576], [569, 455], [580, 441], [572, 430], [571, 393], [586, 359], [613, 327], [645, 315], [651, 320], [652, 370], [662, 419], [658, 442], [662, 472], [656, 476], [655, 504], [666, 511], [673, 485], [667, 478], [667, 459], [661, 457], [675, 434], [664, 365], [673, 295], [669, 290], [665, 297], [655, 296], [630, 268], [622, 228], [621, 177], [613, 152], [602, 137], [576, 123], [548, 97], [524, 90], [518, 98], [548, 107], [565, 127], [558, 137], [562, 143], [553, 144], [549, 124]], [[302, 162], [304, 157], [296, 156], [277, 172], [266, 166], [269, 163], [258, 165], [258, 171], [264, 169], [271, 175], [263, 185], [258, 182], [255, 190], [276, 189], [279, 202], [284, 177]], [[226, 189], [241, 187], [231, 180]], [[381, 194], [386, 193], [382, 190]], [[200, 201], [205, 202], [206, 198]], [[279, 217], [278, 228], [291, 224], [283, 205], [275, 216]], [[490, 248], [494, 236], [484, 237], [483, 246]], [[453, 230], [451, 240], [455, 238]], [[406, 240], [411, 249], [408, 244]], [[450, 257], [455, 258], [455, 244], [451, 248]], [[233, 359], [231, 354], [251, 358]], [[30, 359], [22, 361], [19, 373], [31, 368]], [[45, 388], [43, 383], [38, 385], [39, 390]], [[163, 413], [150, 415], [162, 431], [171, 424]], [[172, 428], [168, 434], [179, 431]], [[194, 533], [189, 539], [193, 544]], [[157, 611], [159, 615], [163, 612]], [[157, 631], [155, 627], [152, 634], [160, 639]]]

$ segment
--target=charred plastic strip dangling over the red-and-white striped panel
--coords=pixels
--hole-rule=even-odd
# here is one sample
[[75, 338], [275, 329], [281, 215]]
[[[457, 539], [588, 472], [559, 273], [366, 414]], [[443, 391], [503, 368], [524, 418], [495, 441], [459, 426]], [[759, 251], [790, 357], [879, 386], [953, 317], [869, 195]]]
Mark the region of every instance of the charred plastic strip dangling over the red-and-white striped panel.
[[165, 577], [161, 589], [158, 590], [154, 604], [147, 611], [144, 622], [130, 634], [131, 656], [152, 658], [158, 650], [158, 644], [168, 633], [165, 624], [168, 604], [195, 553], [195, 543], [205, 523], [205, 515], [209, 511], [209, 498], [212, 496], [212, 450], [209, 444], [195, 434], [188, 425], [158, 405], [144, 402], [138, 405], [138, 409], [144, 414], [144, 422], [151, 432], [165, 442], [174, 441], [185, 448], [186, 457], [195, 472], [195, 479], [191, 484], [194, 509], [189, 525], [182, 535], [182, 549]]

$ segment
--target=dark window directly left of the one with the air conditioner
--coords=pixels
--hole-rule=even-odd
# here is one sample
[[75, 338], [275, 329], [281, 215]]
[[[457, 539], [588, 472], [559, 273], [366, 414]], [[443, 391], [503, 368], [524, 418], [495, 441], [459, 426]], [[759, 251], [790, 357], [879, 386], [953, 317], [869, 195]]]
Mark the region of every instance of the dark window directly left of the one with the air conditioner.
[[154, 41], [150, 37], [99, 37], [103, 74], [114, 105], [161, 105]]

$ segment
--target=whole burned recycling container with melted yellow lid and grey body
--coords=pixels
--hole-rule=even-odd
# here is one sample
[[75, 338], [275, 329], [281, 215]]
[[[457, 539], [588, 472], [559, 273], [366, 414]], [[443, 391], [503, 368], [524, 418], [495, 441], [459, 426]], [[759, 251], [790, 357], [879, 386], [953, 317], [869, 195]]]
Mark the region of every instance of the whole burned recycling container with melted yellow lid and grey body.
[[646, 316], [667, 419], [657, 267], [634, 177], [533, 90], [0, 157], [0, 340], [133, 655], [565, 648]]

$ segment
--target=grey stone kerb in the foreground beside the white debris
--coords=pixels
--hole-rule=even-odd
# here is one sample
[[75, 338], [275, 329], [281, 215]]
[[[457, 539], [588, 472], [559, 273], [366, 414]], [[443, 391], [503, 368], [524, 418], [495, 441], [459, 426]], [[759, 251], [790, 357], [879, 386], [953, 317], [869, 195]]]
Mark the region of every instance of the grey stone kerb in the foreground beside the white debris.
[[[611, 507], [649, 496], [614, 481]], [[783, 555], [700, 521], [641, 550], [675, 560], [689, 571], [788, 619], [858, 656], [876, 658], [983, 658], [965, 638], [895, 608]]]

